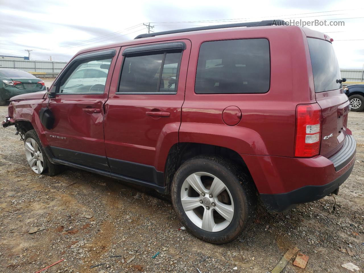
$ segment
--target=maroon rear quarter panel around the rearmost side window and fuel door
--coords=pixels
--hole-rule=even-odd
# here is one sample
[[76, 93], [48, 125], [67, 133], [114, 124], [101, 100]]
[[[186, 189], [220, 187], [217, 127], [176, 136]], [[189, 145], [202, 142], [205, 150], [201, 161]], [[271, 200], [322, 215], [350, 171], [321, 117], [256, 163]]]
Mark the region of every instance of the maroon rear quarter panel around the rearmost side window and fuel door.
[[[265, 38], [270, 45], [270, 88], [264, 94], [195, 94], [198, 52], [204, 41]], [[230, 148], [240, 154], [293, 157], [297, 104], [313, 103], [313, 78], [306, 36], [298, 27], [259, 27], [199, 33], [193, 48], [182, 107], [180, 142]], [[241, 109], [236, 126], [222, 120], [228, 106]], [[248, 166], [249, 167], [249, 166]]]

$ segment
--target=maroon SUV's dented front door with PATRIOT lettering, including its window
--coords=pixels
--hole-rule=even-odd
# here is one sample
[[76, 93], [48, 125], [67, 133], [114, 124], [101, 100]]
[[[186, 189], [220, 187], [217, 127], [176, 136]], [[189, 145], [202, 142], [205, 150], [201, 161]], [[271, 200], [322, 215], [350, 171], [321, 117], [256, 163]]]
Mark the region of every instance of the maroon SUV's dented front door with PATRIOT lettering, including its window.
[[[104, 147], [104, 108], [119, 48], [77, 56], [62, 71], [50, 91], [49, 108], [55, 117], [52, 129], [46, 133], [47, 141], [58, 159], [109, 171]], [[105, 84], [83, 82], [75, 84], [73, 75], [84, 67], [108, 65]], [[96, 70], [97, 72], [97, 70]], [[98, 75], [98, 74], [96, 74]], [[83, 80], [83, 79], [82, 79]], [[43, 107], [46, 107], [47, 101]], [[47, 130], [47, 129], [46, 129]]]

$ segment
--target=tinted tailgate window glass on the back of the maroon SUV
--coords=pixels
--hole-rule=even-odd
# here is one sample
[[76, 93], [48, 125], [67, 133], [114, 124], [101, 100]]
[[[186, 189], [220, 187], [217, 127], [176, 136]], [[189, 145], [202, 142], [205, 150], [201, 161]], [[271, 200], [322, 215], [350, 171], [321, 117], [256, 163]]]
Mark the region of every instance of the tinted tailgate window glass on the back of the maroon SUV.
[[307, 38], [307, 40], [311, 56], [315, 92], [319, 93], [342, 88], [341, 83], [336, 83], [336, 80], [341, 79], [341, 75], [332, 44], [315, 38]]

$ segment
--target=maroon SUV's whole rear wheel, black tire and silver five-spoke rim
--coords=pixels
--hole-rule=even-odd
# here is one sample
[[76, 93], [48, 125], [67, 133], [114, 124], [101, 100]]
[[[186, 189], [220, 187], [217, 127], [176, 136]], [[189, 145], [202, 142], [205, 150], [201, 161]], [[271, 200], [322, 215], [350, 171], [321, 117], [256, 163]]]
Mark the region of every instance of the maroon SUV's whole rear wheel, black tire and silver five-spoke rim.
[[256, 191], [233, 162], [198, 156], [179, 167], [171, 187], [179, 220], [197, 238], [214, 244], [234, 240], [255, 215]]

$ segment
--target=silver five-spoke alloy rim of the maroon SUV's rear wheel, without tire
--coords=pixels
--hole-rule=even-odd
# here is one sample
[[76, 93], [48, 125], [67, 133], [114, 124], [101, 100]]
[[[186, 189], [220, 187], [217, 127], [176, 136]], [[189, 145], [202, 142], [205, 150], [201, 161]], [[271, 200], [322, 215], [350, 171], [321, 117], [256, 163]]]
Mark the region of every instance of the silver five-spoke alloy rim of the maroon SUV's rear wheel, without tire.
[[181, 202], [187, 217], [200, 229], [218, 232], [234, 217], [234, 202], [226, 185], [209, 173], [191, 174], [183, 182]]

